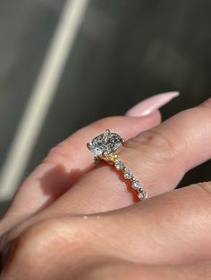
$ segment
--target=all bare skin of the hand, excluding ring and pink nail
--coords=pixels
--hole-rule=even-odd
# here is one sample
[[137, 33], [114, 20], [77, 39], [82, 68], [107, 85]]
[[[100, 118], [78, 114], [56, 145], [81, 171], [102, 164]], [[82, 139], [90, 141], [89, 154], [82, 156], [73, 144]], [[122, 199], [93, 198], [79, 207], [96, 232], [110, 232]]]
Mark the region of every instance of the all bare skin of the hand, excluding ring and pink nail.
[[[160, 125], [158, 111], [101, 119], [58, 144], [0, 223], [0, 279], [210, 279], [211, 183], [174, 190], [211, 158], [210, 119], [211, 99]], [[105, 128], [128, 140], [121, 160], [147, 201], [108, 165], [93, 169], [86, 143]]]

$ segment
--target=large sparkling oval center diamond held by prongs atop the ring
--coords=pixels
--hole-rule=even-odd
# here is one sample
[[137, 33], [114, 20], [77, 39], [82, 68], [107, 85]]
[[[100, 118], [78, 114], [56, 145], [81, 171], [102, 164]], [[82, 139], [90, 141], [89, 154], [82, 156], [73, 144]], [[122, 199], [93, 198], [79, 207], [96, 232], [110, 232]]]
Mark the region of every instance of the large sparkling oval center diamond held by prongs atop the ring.
[[109, 155], [116, 152], [123, 144], [123, 139], [118, 134], [106, 129], [105, 133], [95, 137], [89, 144], [90, 152], [96, 156]]

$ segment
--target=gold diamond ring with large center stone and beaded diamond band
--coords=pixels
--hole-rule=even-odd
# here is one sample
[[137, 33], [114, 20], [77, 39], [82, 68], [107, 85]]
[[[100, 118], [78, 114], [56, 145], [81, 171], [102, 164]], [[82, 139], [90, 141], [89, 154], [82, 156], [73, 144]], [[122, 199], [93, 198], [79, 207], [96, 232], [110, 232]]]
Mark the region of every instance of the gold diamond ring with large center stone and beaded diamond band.
[[119, 160], [118, 154], [122, 150], [124, 144], [125, 141], [121, 136], [106, 129], [104, 133], [92, 139], [92, 141], [87, 144], [87, 147], [90, 152], [94, 153], [95, 163], [105, 161], [113, 164], [114, 168], [122, 172], [123, 177], [131, 183], [131, 188], [136, 191], [139, 200], [145, 200], [148, 198], [148, 194], [143, 190], [139, 179], [134, 177], [132, 171]]

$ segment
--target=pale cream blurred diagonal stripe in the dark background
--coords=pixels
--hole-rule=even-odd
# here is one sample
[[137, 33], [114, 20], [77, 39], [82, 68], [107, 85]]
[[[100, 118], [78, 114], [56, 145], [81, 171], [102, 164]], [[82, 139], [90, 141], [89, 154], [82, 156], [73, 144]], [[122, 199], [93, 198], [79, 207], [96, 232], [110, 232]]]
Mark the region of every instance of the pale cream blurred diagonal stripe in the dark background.
[[0, 172], [0, 201], [12, 198], [29, 163], [88, 4], [89, 0], [67, 0], [64, 5], [30, 101]]

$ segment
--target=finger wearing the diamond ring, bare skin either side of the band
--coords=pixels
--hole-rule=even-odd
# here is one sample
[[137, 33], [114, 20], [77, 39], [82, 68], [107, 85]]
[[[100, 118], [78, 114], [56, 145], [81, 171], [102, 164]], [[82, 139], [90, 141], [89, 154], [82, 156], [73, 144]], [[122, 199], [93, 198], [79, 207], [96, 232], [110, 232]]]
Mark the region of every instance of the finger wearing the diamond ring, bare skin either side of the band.
[[[210, 119], [211, 99], [128, 141], [119, 157], [139, 178], [149, 197], [172, 189], [189, 169], [210, 159]], [[82, 177], [49, 210], [93, 213], [132, 202], [122, 177], [104, 164]]]

